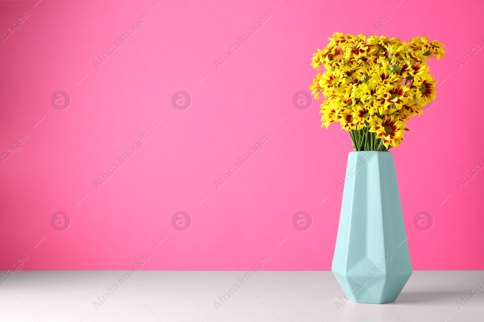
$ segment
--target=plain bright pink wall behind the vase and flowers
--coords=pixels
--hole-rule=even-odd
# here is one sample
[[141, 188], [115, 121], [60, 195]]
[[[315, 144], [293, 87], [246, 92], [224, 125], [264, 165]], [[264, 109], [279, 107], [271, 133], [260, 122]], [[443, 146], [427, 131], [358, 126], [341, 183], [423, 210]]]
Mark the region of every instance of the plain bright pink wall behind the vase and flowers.
[[[264, 254], [268, 270], [331, 269], [343, 192], [335, 181], [350, 138], [336, 124], [319, 127], [322, 101], [298, 109], [292, 99], [308, 91], [311, 56], [333, 31], [375, 25], [378, 35], [447, 46], [430, 61], [435, 103], [392, 150], [413, 267], [484, 269], [484, 170], [456, 183], [484, 166], [484, 52], [474, 49], [484, 45], [482, 1], [118, 2], [1, 3], [2, 32], [28, 14], [0, 44], [0, 152], [28, 136], [0, 166], [1, 269], [23, 254], [23, 269], [126, 269], [143, 254], [144, 269], [246, 270]], [[217, 66], [234, 42], [240, 48]], [[112, 54], [96, 66], [104, 50]], [[475, 54], [458, 64], [467, 50]], [[172, 105], [181, 90], [189, 107], [178, 96]], [[57, 91], [68, 107], [55, 104]], [[96, 187], [105, 170], [114, 173]], [[56, 226], [57, 211], [68, 229], [54, 229], [67, 226], [65, 215]], [[181, 228], [178, 211], [189, 214]], [[308, 230], [293, 226], [299, 211], [310, 214]], [[421, 211], [433, 218], [429, 230], [414, 225]]]

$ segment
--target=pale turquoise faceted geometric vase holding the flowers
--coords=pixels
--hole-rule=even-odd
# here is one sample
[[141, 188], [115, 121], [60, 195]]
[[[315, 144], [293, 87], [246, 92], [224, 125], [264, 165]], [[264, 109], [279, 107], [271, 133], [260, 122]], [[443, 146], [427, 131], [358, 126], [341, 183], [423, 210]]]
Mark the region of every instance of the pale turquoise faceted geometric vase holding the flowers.
[[349, 300], [393, 302], [412, 274], [391, 152], [348, 155], [331, 267]]

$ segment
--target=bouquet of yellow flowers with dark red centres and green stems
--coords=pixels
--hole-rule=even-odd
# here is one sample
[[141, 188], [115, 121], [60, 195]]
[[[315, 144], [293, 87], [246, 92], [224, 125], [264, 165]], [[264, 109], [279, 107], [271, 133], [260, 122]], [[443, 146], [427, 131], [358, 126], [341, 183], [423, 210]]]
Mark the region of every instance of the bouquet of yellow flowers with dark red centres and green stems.
[[329, 44], [313, 56], [319, 70], [309, 86], [320, 105], [322, 126], [340, 122], [349, 132], [354, 151], [387, 151], [402, 142], [407, 120], [422, 114], [436, 98], [434, 76], [427, 59], [443, 57], [444, 45], [425, 37], [409, 42], [335, 32]]

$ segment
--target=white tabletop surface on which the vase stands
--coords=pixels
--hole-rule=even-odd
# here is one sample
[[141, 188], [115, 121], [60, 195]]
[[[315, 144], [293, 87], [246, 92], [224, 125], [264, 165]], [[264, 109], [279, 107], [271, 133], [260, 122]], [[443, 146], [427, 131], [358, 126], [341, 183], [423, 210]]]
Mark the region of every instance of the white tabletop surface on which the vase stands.
[[[121, 284], [124, 272], [22, 270], [0, 285], [0, 321], [484, 321], [484, 289], [456, 305], [484, 287], [482, 270], [414, 271], [388, 304], [344, 303], [330, 271], [263, 271], [243, 285], [241, 271], [141, 271]], [[96, 309], [93, 301], [113, 284], [119, 289]], [[240, 290], [217, 310], [214, 301], [234, 284]]]

